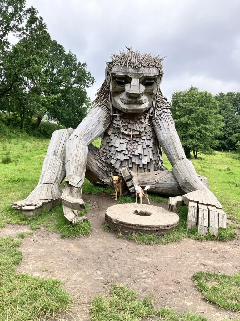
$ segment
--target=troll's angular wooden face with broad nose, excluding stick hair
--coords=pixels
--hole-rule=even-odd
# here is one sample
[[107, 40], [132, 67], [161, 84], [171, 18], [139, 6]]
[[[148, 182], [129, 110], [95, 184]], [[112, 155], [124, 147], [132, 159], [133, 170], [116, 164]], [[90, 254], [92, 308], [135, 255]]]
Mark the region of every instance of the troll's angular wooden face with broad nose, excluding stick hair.
[[106, 68], [106, 81], [110, 82], [112, 104], [124, 113], [142, 113], [151, 107], [163, 72], [156, 67], [132, 68], [113, 66]]

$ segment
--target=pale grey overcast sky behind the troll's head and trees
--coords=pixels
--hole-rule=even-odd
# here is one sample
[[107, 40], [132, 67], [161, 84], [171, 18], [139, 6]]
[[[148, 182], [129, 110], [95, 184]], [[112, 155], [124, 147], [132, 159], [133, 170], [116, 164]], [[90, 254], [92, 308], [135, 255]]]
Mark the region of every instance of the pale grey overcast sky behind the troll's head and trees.
[[191, 85], [212, 92], [240, 91], [239, 0], [27, 0], [52, 39], [86, 62], [95, 78], [125, 46], [167, 56], [161, 89], [166, 97]]

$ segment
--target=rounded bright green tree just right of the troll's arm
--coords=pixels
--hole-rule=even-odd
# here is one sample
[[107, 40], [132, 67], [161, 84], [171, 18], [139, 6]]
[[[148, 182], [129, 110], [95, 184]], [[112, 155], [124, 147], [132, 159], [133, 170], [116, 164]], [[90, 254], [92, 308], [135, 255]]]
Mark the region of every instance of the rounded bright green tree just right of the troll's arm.
[[172, 94], [172, 115], [185, 154], [194, 158], [198, 152], [210, 153], [218, 146], [223, 117], [218, 114], [217, 101], [207, 91], [190, 87]]

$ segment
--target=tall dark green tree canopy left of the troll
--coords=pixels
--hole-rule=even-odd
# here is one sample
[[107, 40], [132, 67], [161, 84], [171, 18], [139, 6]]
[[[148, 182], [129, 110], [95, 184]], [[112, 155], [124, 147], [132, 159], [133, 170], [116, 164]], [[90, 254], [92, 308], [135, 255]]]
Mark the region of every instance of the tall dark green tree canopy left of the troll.
[[[94, 78], [86, 63], [52, 40], [43, 18], [25, 0], [0, 4], [0, 101], [1, 110], [20, 116], [22, 129], [45, 113], [66, 127], [76, 127], [91, 108], [86, 88]], [[19, 41], [11, 45], [8, 37]]]

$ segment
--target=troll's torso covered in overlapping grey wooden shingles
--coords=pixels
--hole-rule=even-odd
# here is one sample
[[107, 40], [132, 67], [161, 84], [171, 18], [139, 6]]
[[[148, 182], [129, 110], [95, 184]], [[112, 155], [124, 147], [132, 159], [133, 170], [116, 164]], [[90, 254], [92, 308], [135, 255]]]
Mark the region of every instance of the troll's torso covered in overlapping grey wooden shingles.
[[100, 147], [109, 175], [120, 174], [125, 166], [136, 173], [164, 169], [161, 148], [147, 114], [116, 114], [102, 135]]

